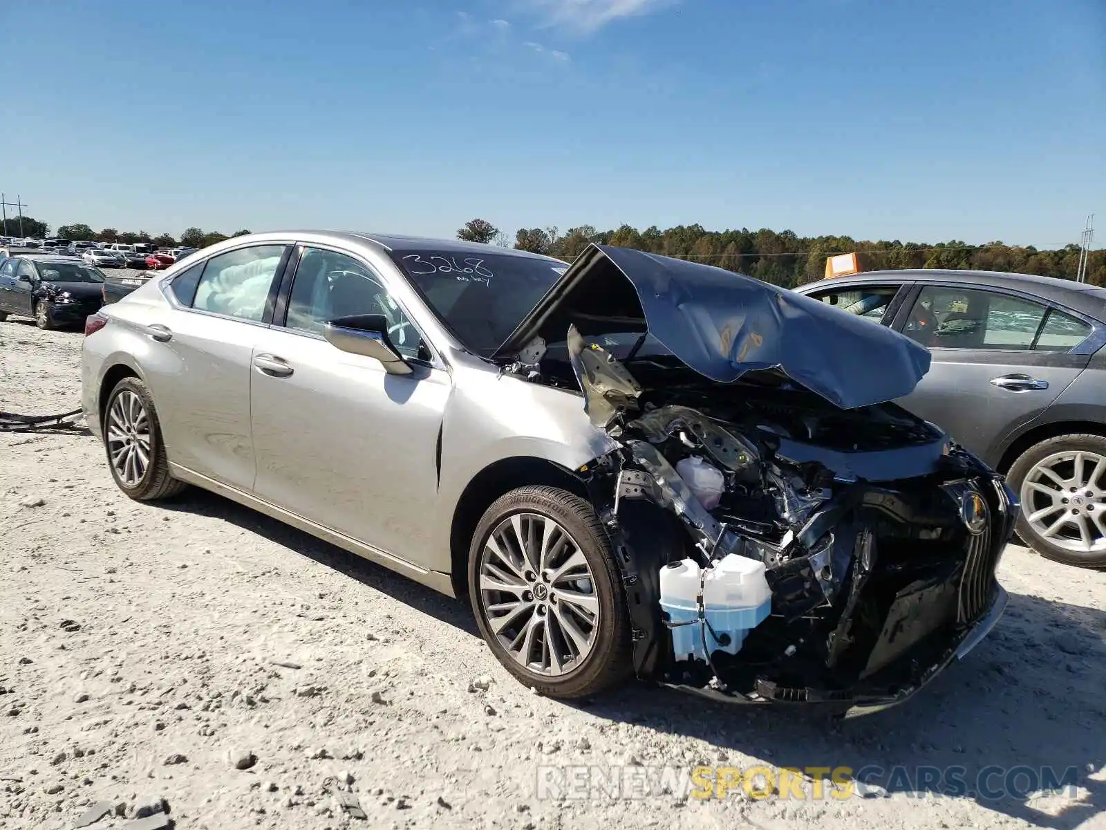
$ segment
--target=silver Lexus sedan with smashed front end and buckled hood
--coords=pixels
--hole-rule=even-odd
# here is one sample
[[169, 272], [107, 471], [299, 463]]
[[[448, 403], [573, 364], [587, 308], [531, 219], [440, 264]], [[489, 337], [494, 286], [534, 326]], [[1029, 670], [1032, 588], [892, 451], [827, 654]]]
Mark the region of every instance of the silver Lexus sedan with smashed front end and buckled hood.
[[85, 333], [83, 408], [125, 494], [201, 487], [468, 595], [547, 695], [636, 675], [859, 714], [1006, 601], [1016, 498], [888, 403], [928, 351], [749, 277], [261, 234]]

